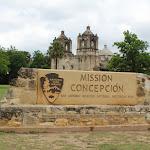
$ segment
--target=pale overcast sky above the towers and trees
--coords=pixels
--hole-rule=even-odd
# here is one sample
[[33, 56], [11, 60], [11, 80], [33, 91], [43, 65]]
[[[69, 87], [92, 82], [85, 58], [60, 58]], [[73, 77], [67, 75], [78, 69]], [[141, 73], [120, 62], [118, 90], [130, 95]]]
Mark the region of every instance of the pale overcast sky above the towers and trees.
[[[123, 31], [136, 33], [150, 43], [150, 0], [0, 0], [0, 45], [46, 53], [61, 30], [72, 39], [86, 26], [99, 36], [99, 49], [122, 41]], [[150, 48], [148, 51], [150, 52]]]

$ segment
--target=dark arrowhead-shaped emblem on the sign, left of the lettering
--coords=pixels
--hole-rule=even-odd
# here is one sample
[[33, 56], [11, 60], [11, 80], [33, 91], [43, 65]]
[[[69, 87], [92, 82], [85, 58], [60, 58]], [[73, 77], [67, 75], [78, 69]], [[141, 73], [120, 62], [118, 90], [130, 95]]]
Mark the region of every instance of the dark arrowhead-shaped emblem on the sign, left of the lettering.
[[59, 78], [56, 73], [46, 74], [45, 77], [41, 77], [41, 87], [47, 100], [53, 103], [62, 90], [63, 78]]

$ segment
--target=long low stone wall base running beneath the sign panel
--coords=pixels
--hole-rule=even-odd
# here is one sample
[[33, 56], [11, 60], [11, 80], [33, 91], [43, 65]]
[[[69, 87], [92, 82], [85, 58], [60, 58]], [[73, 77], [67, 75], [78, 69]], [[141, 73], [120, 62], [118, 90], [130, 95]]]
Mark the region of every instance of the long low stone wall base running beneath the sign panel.
[[1, 105], [0, 126], [112, 126], [150, 123], [150, 106]]

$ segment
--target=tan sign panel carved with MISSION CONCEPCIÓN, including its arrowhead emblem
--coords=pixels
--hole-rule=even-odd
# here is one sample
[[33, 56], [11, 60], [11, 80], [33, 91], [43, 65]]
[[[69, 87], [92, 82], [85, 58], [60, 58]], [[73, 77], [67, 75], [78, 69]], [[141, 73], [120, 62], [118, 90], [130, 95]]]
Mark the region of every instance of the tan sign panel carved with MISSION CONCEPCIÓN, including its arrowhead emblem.
[[37, 104], [135, 105], [136, 73], [38, 70]]

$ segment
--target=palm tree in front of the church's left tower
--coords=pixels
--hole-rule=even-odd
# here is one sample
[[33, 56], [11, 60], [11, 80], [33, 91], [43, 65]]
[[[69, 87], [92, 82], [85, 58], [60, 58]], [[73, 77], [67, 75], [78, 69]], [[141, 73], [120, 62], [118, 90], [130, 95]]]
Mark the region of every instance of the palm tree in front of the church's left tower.
[[57, 69], [57, 59], [62, 58], [64, 55], [65, 48], [62, 43], [59, 41], [54, 41], [51, 43], [49, 49], [48, 49], [48, 54], [50, 55], [50, 58], [53, 58], [56, 60], [56, 69]]

